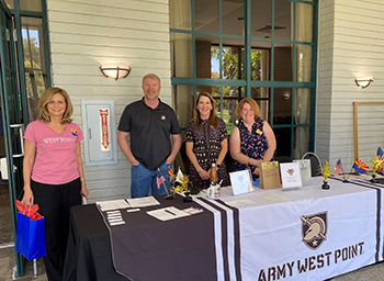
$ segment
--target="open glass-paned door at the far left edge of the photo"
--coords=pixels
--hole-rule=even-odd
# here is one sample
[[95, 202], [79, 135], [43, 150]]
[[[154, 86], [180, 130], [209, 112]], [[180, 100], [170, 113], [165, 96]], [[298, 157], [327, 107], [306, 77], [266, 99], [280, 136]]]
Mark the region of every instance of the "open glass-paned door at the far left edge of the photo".
[[[15, 237], [16, 207], [14, 200], [21, 196], [23, 189], [23, 124], [22, 104], [18, 87], [15, 47], [13, 40], [12, 15], [3, 0], [0, 0], [0, 101], [4, 148], [8, 167], [8, 183]], [[15, 252], [18, 276], [22, 277], [23, 258]]]

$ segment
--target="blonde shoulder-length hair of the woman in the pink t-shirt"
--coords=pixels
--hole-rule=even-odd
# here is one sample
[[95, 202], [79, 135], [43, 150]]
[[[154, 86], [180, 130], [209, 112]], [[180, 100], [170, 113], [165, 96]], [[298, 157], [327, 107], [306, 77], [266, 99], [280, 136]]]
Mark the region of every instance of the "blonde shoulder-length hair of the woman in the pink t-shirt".
[[71, 123], [72, 120], [70, 119], [70, 116], [74, 113], [72, 103], [70, 102], [69, 94], [66, 92], [66, 90], [58, 88], [58, 87], [52, 87], [52, 88], [47, 89], [39, 98], [39, 101], [37, 104], [37, 109], [39, 111], [39, 114], [38, 114], [37, 120], [44, 121], [45, 123], [50, 122], [50, 115], [49, 115], [49, 112], [47, 110], [47, 104], [48, 104], [48, 102], [52, 101], [52, 98], [54, 97], [55, 93], [61, 94], [65, 102], [66, 102], [66, 110], [63, 114], [60, 123], [61, 124]]

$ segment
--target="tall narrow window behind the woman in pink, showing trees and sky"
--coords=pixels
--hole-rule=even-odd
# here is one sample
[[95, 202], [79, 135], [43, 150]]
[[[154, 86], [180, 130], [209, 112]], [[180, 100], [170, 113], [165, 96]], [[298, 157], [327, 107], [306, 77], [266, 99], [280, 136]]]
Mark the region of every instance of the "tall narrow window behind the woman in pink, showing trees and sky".
[[39, 97], [47, 87], [43, 20], [22, 16], [21, 25], [30, 121], [34, 121], [38, 116], [36, 109]]

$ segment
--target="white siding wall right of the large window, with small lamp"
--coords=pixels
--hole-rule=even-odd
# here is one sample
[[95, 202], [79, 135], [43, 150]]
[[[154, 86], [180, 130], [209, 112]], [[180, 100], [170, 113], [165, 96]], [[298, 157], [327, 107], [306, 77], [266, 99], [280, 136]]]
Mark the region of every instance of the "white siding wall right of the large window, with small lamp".
[[[320, 0], [316, 153], [354, 161], [353, 101], [384, 101], [384, 1]], [[372, 76], [366, 89], [354, 78]], [[359, 105], [359, 156], [371, 167], [384, 146], [384, 106]]]

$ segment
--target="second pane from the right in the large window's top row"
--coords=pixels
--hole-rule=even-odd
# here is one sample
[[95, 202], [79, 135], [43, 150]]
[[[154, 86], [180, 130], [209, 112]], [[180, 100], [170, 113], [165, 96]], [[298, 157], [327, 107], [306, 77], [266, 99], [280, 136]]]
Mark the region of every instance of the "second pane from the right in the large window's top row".
[[293, 2], [274, 0], [274, 38], [292, 40]]

